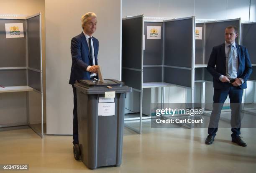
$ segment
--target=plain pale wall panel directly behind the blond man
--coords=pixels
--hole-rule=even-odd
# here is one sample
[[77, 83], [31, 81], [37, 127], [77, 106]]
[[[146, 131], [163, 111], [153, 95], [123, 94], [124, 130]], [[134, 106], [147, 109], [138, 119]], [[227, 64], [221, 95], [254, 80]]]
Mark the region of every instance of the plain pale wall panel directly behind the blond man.
[[99, 65], [104, 78], [120, 79], [121, 1], [46, 0], [45, 8], [47, 134], [72, 134], [70, 41], [82, 32], [81, 16], [95, 12]]

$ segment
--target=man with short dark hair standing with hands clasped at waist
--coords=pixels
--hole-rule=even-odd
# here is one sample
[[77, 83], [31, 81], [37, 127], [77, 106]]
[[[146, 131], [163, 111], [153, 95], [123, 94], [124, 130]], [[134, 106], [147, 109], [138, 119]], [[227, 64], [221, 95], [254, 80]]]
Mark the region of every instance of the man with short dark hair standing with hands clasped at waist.
[[[205, 144], [212, 144], [223, 104], [230, 98], [232, 142], [245, 147], [241, 140], [241, 102], [243, 89], [247, 88], [246, 81], [251, 75], [252, 66], [246, 47], [235, 43], [238, 36], [236, 26], [225, 28], [225, 43], [212, 48], [207, 70], [213, 76], [213, 109], [210, 117], [208, 136]], [[216, 66], [216, 67], [215, 67]]]

